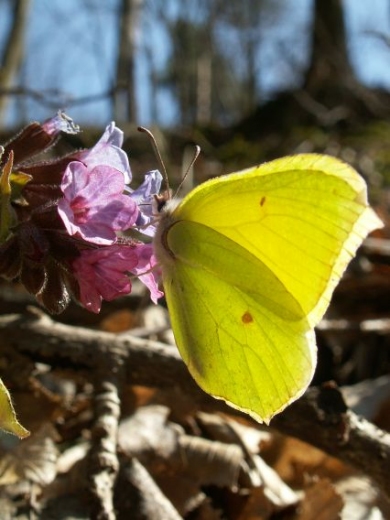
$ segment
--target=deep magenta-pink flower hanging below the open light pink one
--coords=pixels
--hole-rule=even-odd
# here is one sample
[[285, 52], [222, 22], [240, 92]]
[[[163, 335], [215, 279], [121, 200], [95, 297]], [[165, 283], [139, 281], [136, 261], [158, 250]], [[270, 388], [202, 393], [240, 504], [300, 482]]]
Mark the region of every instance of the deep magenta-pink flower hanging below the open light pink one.
[[102, 300], [111, 301], [131, 292], [128, 272], [138, 263], [135, 247], [112, 245], [81, 252], [72, 264], [80, 287], [80, 303], [98, 313]]

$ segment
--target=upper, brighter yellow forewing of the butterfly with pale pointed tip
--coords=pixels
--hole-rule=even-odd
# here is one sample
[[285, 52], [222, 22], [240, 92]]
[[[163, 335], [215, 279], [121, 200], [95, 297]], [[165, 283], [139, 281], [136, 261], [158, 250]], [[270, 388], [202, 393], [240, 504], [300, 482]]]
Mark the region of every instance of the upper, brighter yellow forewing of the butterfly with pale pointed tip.
[[363, 238], [382, 226], [355, 170], [315, 154], [208, 181], [174, 217], [210, 226], [259, 258], [313, 327]]

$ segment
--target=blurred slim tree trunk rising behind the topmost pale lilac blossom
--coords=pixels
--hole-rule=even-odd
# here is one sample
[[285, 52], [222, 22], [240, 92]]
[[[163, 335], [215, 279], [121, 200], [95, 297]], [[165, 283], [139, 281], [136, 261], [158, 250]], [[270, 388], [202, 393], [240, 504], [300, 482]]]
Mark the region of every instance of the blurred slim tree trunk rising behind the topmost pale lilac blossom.
[[114, 89], [114, 118], [137, 121], [135, 93], [135, 53], [140, 14], [144, 0], [121, 0], [119, 49]]

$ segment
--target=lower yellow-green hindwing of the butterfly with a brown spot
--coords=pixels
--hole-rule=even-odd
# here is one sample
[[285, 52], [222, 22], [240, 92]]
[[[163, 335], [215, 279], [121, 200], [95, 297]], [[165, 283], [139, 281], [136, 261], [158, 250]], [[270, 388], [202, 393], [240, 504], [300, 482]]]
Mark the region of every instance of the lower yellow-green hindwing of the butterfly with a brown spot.
[[268, 268], [229, 238], [178, 222], [167, 239], [175, 258], [163, 265], [164, 289], [192, 376], [214, 397], [268, 422], [312, 378], [316, 348], [306, 317]]

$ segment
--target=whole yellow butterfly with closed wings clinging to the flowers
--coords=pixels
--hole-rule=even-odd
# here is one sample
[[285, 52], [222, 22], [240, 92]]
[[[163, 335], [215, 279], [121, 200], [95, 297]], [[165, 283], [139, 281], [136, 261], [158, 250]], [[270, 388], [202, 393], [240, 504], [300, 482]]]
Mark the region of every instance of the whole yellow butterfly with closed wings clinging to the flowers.
[[310, 383], [314, 326], [381, 225], [337, 159], [292, 156], [168, 202], [154, 238], [172, 328], [198, 384], [268, 422]]

